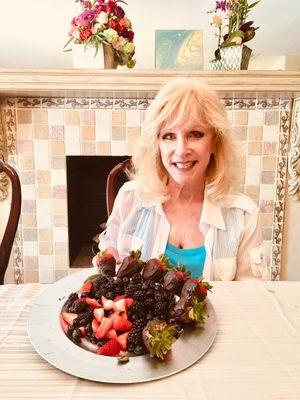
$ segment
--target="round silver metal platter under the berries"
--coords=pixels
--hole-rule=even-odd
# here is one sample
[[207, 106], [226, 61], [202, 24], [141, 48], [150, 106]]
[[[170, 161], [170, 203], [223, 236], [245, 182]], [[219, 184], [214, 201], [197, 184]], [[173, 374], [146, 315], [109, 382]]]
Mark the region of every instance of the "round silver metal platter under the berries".
[[126, 364], [116, 357], [101, 356], [76, 346], [64, 334], [59, 321], [62, 305], [83, 281], [97, 273], [96, 268], [81, 270], [45, 289], [34, 301], [29, 319], [28, 335], [35, 350], [56, 368], [79, 378], [107, 383], [137, 383], [164, 378], [191, 366], [212, 345], [217, 322], [209, 300], [209, 318], [203, 327], [186, 327], [172, 346], [165, 361], [144, 356], [130, 357]]

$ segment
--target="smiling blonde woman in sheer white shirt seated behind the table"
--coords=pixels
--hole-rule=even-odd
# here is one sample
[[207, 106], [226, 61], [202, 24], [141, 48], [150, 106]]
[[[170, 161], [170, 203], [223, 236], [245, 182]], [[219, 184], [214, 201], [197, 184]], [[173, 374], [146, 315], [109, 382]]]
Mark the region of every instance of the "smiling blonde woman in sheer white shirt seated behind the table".
[[117, 259], [136, 249], [143, 260], [165, 254], [210, 280], [261, 279], [259, 212], [234, 192], [231, 130], [207, 85], [168, 82], [147, 110], [132, 180], [116, 197], [100, 250]]

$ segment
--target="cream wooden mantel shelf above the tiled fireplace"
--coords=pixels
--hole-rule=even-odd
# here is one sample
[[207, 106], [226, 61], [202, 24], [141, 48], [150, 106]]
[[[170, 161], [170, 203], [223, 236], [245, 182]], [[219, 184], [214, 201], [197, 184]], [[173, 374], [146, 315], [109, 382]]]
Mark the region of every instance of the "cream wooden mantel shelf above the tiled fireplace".
[[103, 92], [151, 92], [176, 76], [203, 79], [218, 92], [300, 94], [300, 72], [293, 71], [0, 69], [0, 96], [90, 97]]

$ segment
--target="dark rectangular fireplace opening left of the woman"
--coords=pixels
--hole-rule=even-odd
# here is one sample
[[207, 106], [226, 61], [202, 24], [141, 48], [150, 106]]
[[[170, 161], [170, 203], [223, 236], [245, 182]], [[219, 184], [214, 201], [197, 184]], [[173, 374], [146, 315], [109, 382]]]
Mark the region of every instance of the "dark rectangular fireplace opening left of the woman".
[[[128, 156], [67, 156], [69, 256], [72, 268], [91, 267], [93, 237], [106, 222], [106, 180]], [[119, 186], [126, 181], [120, 179]]]

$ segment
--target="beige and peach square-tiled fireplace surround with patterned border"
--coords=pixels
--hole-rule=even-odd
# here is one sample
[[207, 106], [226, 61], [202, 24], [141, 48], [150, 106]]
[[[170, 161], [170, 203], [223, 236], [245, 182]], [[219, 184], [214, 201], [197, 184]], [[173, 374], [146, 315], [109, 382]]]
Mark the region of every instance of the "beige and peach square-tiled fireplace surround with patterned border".
[[[51, 283], [69, 273], [66, 156], [130, 155], [151, 94], [2, 99], [2, 136], [8, 161], [19, 172], [23, 196], [12, 255], [17, 283]], [[271, 279], [276, 280], [291, 102], [279, 96], [233, 95], [222, 101], [242, 154], [241, 190], [260, 206]]]

